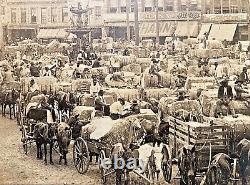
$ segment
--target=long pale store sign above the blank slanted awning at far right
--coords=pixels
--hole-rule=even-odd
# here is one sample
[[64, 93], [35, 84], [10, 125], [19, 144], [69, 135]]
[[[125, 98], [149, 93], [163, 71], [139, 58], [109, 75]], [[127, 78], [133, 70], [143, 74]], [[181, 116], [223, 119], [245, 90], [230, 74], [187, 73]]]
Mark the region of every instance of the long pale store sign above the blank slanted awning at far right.
[[234, 13], [234, 14], [204, 14], [204, 22], [246, 22], [247, 13]]

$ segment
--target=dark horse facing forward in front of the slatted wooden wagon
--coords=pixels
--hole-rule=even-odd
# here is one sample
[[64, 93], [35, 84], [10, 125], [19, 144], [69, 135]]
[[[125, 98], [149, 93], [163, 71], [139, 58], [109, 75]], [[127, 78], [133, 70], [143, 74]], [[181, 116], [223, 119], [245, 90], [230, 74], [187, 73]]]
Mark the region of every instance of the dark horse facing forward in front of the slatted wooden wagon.
[[180, 185], [195, 185], [197, 158], [194, 145], [187, 145], [178, 151], [178, 168], [181, 175]]

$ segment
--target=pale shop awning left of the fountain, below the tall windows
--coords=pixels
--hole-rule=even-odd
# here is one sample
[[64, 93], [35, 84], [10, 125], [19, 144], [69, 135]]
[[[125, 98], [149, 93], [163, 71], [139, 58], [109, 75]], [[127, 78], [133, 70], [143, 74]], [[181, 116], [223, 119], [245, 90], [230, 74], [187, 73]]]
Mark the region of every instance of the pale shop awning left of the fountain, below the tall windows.
[[66, 39], [69, 33], [64, 29], [41, 29], [38, 34], [38, 39]]

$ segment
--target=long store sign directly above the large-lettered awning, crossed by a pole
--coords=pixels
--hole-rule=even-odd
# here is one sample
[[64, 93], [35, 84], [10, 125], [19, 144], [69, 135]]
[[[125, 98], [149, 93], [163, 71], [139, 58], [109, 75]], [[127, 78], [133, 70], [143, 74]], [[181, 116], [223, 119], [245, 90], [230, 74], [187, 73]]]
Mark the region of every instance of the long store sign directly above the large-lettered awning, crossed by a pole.
[[[201, 12], [159, 12], [159, 20], [199, 20], [201, 19]], [[144, 12], [142, 14], [142, 20], [155, 20], [155, 12]]]

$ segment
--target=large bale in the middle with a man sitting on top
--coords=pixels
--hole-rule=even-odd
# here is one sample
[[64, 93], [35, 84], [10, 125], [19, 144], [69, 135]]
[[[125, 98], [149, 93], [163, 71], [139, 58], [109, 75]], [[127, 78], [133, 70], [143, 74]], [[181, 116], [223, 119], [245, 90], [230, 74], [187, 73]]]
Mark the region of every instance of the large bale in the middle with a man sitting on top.
[[164, 71], [160, 71], [161, 81], [158, 82], [158, 77], [156, 75], [149, 74], [149, 68], [143, 74], [142, 86], [146, 87], [158, 87], [161, 84], [163, 87], [174, 88], [177, 84], [178, 78], [174, 77], [172, 74], [168, 74]]

